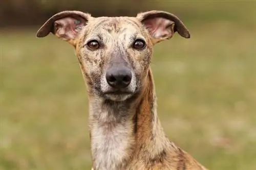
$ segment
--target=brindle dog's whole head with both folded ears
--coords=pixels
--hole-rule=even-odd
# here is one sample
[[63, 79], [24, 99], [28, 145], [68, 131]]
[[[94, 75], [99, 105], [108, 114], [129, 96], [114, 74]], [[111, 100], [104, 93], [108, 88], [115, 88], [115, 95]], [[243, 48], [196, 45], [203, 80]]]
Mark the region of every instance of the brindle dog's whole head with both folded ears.
[[190, 37], [178, 17], [163, 11], [97, 18], [80, 11], [63, 11], [46, 21], [37, 37], [50, 32], [76, 48], [88, 91], [112, 101], [124, 101], [140, 90], [154, 44], [175, 32]]

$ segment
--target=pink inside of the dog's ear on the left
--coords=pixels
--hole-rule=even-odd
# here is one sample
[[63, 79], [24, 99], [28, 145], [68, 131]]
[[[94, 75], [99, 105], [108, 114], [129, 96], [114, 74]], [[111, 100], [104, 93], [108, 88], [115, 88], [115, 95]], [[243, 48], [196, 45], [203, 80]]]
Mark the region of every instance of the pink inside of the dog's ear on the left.
[[64, 39], [74, 39], [80, 27], [84, 26], [84, 22], [66, 17], [55, 21], [55, 34]]

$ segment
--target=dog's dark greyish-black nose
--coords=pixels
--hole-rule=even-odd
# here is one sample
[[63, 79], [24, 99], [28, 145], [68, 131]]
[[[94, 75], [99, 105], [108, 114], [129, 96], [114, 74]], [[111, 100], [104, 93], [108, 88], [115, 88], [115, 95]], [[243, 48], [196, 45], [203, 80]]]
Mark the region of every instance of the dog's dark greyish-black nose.
[[132, 80], [132, 72], [129, 68], [112, 67], [106, 71], [106, 81], [114, 88], [125, 88]]

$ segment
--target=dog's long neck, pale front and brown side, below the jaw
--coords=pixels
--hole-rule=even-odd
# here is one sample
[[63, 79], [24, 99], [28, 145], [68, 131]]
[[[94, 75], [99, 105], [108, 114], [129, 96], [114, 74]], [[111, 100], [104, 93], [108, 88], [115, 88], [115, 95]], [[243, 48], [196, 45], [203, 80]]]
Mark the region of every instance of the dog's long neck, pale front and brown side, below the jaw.
[[90, 96], [89, 128], [94, 169], [122, 169], [136, 157], [153, 158], [170, 144], [160, 125], [151, 69], [143, 89], [123, 102]]

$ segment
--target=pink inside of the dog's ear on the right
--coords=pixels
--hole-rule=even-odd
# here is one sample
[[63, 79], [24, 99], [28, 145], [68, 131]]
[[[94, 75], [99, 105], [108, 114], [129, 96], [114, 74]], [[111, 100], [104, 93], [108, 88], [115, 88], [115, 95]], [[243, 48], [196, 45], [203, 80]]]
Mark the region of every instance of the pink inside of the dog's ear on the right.
[[174, 31], [170, 27], [174, 22], [165, 18], [151, 18], [144, 21], [144, 25], [154, 38], [172, 37]]

